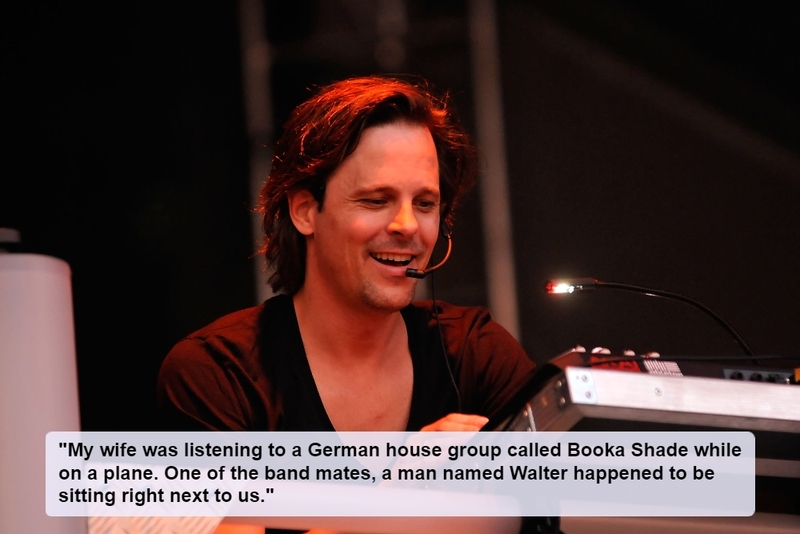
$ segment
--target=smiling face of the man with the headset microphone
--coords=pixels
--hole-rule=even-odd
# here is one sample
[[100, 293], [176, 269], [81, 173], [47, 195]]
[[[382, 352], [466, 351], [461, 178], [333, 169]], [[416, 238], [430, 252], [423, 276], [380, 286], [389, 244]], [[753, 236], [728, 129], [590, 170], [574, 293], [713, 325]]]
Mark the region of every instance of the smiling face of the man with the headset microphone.
[[310, 210], [306, 281], [345, 306], [397, 311], [414, 295], [439, 228], [439, 165], [427, 128], [366, 129]]

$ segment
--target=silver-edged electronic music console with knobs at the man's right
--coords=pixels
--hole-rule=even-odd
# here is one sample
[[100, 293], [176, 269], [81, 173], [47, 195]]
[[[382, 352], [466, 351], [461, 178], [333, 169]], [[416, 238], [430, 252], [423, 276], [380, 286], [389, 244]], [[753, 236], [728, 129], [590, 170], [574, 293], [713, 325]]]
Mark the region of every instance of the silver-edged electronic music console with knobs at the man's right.
[[742, 361], [752, 358], [614, 356], [576, 347], [540, 367], [486, 430], [751, 431], [756, 510], [800, 514], [800, 369]]

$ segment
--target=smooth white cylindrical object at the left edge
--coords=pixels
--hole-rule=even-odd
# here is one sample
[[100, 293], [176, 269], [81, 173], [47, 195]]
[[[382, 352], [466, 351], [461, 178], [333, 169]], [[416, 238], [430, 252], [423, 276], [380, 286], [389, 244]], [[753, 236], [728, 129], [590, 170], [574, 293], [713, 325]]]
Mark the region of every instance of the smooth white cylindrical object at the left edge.
[[86, 533], [45, 513], [52, 430], [80, 430], [69, 265], [0, 254], [0, 532]]

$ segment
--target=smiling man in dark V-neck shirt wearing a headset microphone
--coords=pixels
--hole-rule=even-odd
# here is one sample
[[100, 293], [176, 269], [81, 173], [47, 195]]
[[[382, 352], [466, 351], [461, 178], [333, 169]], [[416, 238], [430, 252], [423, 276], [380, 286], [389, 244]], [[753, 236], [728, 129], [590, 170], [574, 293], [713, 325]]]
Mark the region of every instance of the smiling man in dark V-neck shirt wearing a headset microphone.
[[279, 295], [180, 341], [181, 430], [477, 430], [533, 364], [485, 308], [412, 303], [475, 148], [425, 86], [367, 77], [292, 113], [261, 192]]

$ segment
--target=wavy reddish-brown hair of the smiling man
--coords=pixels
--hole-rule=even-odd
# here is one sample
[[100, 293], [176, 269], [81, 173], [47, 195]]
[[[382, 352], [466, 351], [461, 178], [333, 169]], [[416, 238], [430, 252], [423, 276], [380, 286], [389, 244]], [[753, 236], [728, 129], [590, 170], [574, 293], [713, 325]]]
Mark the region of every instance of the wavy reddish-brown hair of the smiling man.
[[284, 126], [261, 189], [264, 248], [275, 292], [295, 294], [305, 281], [306, 242], [289, 216], [288, 196], [308, 189], [322, 210], [325, 184], [371, 126], [409, 122], [425, 126], [439, 159], [442, 217], [452, 221], [459, 196], [477, 172], [476, 150], [453, 116], [446, 96], [424, 81], [370, 76], [323, 87], [299, 105]]

